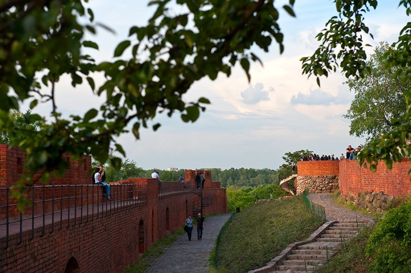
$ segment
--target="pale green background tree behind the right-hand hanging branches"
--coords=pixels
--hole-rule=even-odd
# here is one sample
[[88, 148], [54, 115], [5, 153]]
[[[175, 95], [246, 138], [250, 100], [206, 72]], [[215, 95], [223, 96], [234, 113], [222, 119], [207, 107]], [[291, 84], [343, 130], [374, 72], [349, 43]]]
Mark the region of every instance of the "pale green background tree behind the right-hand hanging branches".
[[365, 135], [368, 141], [395, 129], [393, 119], [407, 122], [404, 92], [411, 88], [411, 78], [409, 71], [389, 65], [390, 50], [395, 48], [382, 43], [366, 63], [369, 72], [346, 82], [356, 95], [344, 118], [351, 120], [350, 134]]

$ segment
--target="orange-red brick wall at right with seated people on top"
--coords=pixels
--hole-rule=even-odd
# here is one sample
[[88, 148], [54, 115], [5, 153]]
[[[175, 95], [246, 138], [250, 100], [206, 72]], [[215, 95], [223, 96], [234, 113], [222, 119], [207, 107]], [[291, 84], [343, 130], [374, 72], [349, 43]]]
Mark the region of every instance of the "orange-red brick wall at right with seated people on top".
[[357, 161], [341, 161], [340, 190], [343, 196], [348, 193], [357, 196], [362, 191], [385, 191], [390, 196], [404, 197], [411, 194], [411, 181], [408, 170], [411, 162], [404, 159], [394, 163], [388, 170], [383, 162], [379, 162], [377, 171], [371, 172], [358, 165]]

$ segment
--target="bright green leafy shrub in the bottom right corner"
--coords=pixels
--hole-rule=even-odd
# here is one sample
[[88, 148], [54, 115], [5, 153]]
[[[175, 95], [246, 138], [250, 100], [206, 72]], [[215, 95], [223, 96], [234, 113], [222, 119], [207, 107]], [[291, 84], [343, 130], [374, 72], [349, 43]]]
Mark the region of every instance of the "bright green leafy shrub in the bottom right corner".
[[368, 240], [366, 254], [375, 272], [411, 272], [411, 202], [387, 211]]

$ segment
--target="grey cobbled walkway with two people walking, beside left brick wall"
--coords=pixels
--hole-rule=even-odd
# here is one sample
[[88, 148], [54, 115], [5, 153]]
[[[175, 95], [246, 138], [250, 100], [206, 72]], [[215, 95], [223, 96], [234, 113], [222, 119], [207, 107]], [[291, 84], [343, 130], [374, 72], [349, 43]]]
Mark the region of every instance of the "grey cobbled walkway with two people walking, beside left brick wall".
[[191, 241], [184, 233], [145, 272], [207, 272], [215, 240], [230, 216], [231, 214], [227, 213], [206, 217], [201, 241], [197, 240], [197, 227], [194, 226]]

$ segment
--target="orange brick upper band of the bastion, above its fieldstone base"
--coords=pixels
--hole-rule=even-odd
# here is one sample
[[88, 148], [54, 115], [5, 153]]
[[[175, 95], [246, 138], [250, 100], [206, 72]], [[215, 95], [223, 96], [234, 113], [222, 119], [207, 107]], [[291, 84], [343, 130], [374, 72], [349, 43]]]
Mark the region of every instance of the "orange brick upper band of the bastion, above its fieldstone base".
[[298, 161], [298, 175], [339, 175], [339, 160]]

